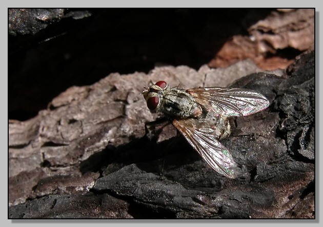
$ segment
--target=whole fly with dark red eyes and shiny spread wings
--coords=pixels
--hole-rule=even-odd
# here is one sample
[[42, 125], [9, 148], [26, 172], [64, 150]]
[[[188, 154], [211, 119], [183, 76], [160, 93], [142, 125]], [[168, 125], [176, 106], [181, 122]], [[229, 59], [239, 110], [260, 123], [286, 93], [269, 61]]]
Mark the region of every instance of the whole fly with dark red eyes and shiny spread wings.
[[216, 172], [237, 176], [230, 151], [219, 143], [231, 133], [228, 118], [247, 116], [269, 106], [268, 99], [253, 90], [224, 87], [169, 88], [165, 81], [144, 87], [152, 112], [162, 112], [189, 144]]

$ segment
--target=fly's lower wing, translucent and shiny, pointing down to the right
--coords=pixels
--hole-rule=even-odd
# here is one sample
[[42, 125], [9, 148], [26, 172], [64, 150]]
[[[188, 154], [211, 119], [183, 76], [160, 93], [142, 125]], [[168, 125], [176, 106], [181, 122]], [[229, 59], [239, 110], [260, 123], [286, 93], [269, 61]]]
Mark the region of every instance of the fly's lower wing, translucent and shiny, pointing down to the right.
[[236, 177], [236, 163], [232, 155], [216, 140], [214, 130], [205, 127], [205, 122], [197, 119], [181, 119], [173, 120], [172, 123], [216, 172], [229, 178]]

